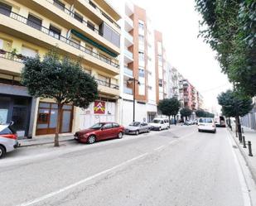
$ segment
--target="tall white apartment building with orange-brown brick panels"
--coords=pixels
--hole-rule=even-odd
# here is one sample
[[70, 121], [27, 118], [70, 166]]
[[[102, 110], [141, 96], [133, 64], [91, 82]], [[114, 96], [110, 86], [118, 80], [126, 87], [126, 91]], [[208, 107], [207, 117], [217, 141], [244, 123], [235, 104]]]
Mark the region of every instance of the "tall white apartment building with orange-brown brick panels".
[[[120, 6], [122, 7], [122, 6]], [[150, 122], [157, 115], [155, 36], [147, 12], [132, 2], [123, 5], [120, 55], [120, 122]]]

